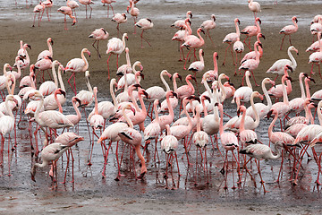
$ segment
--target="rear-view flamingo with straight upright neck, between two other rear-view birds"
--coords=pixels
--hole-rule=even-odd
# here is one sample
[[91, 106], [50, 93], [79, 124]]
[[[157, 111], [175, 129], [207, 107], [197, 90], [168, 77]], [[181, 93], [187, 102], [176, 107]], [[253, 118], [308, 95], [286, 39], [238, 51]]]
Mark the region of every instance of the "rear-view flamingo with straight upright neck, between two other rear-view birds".
[[199, 107], [196, 108], [196, 116], [197, 116], [197, 132], [193, 133], [192, 142], [196, 145], [196, 177], [195, 177], [195, 185], [197, 185], [197, 167], [198, 167], [198, 150], [204, 150], [205, 153], [205, 169], [206, 169], [206, 176], [207, 176], [207, 184], [209, 184], [208, 179], [208, 162], [207, 162], [207, 145], [209, 142], [208, 133], [201, 131], [201, 121], [200, 121], [200, 109]]

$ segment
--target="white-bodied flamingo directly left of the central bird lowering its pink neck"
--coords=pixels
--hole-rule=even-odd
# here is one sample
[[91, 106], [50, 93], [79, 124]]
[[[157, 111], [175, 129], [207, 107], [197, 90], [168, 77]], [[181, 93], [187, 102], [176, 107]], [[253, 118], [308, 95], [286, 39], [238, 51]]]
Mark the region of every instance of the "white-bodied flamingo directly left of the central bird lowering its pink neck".
[[[126, 115], [125, 113], [125, 109], [131, 109], [131, 111], [133, 112], [133, 114], [135, 113], [135, 108], [131, 106], [131, 103], [127, 102], [125, 105], [123, 105], [122, 107], [122, 114], [123, 116]], [[119, 142], [121, 140], [120, 136], [118, 135], [118, 133], [120, 133], [121, 131], [123, 131], [124, 128], [129, 127], [129, 125], [127, 125], [126, 123], [123, 122], [116, 122], [112, 125], [108, 125], [106, 127], [106, 129], [104, 130], [104, 132], [101, 134], [101, 136], [99, 137], [97, 143], [102, 144], [103, 141], [105, 140], [109, 140], [109, 145], [112, 144], [112, 142]], [[108, 148], [109, 149], [109, 148]], [[107, 161], [107, 155], [108, 155], [108, 150], [106, 151], [106, 155], [105, 155], [105, 167], [106, 167], [106, 161]], [[115, 155], [116, 155], [116, 161], [117, 161], [117, 168], [118, 168], [118, 175], [115, 178], [116, 181], [120, 180], [120, 164], [119, 164], [119, 160], [118, 160], [118, 144], [116, 146], [116, 151], [115, 151]], [[102, 172], [102, 176], [106, 177], [105, 175], [105, 168]]]

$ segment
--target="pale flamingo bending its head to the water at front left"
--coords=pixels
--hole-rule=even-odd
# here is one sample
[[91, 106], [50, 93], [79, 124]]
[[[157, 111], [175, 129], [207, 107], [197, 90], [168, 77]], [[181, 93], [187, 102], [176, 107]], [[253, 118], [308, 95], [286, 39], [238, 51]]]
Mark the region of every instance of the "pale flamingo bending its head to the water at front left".
[[41, 151], [41, 159], [43, 160], [43, 162], [41, 164], [35, 163], [31, 168], [31, 180], [36, 182], [36, 168], [45, 168], [50, 161], [55, 161], [56, 159], [59, 159], [64, 154], [64, 152], [68, 150], [68, 148], [68, 146], [60, 142], [54, 142], [50, 145], [47, 145]]

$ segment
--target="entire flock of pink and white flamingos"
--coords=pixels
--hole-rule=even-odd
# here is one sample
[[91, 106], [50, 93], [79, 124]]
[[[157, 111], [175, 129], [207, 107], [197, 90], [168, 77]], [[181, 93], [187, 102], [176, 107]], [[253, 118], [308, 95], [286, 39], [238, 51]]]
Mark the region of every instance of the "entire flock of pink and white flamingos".
[[[46, 4], [40, 3], [36, 6], [37, 8], [35, 7], [35, 18], [36, 13], [39, 14], [38, 26], [40, 26], [42, 14], [45, 9], [50, 8], [53, 4], [53, 1], [46, 2]], [[313, 46], [312, 44], [307, 50], [316, 52], [313, 52], [309, 56], [309, 63], [312, 63], [311, 73], [299, 74], [301, 97], [299, 96], [292, 100], [288, 98], [288, 95], [292, 93], [292, 86], [296, 84], [292, 83], [292, 78], [290, 77], [292, 73], [295, 73], [297, 67], [297, 62], [294, 56], [292, 56], [292, 52], [299, 54], [298, 49], [292, 46], [291, 43], [291, 34], [299, 28], [297, 25], [298, 20], [294, 16], [292, 17], [293, 25], [285, 26], [279, 31], [279, 33], [284, 34], [284, 37], [286, 35], [290, 37], [291, 46], [287, 50], [290, 59], [277, 60], [270, 68], [267, 68], [267, 74], [275, 73], [277, 76], [282, 76], [281, 84], [275, 84], [278, 77], [275, 77], [274, 81], [268, 77], [261, 80], [261, 90], [265, 96], [267, 105], [261, 102], [255, 103], [255, 99], [264, 100], [264, 96], [252, 86], [250, 75], [253, 76], [255, 85], [258, 86], [254, 73], [258, 72], [260, 61], [265, 60], [265, 46], [259, 40], [260, 38], [265, 39], [265, 36], [261, 33], [261, 20], [258, 17], [258, 13], [261, 12], [260, 5], [252, 0], [248, 2], [250, 11], [254, 13], [255, 25], [247, 26], [241, 31], [241, 21], [235, 18], [232, 21], [235, 32], [227, 34], [225, 39], [223, 39], [223, 43], [228, 44], [225, 49], [225, 58], [228, 48], [231, 48], [232, 56], [233, 50], [236, 52], [236, 57], [235, 59], [233, 58], [235, 68], [238, 65], [239, 71], [245, 71], [242, 78], [242, 85], [245, 80], [247, 86], [241, 86], [237, 89], [234, 88], [231, 82], [234, 77], [229, 77], [225, 73], [219, 73], [217, 66], [218, 53], [216, 51], [211, 53], [214, 69], [204, 72], [205, 65], [209, 64], [209, 62], [204, 59], [205, 53], [201, 47], [208, 46], [208, 42], [206, 39], [203, 39], [200, 33], [205, 33], [204, 30], [207, 30], [208, 38], [213, 45], [212, 47], [216, 46], [209, 33], [209, 30], [216, 31], [216, 17], [214, 14], [210, 15], [211, 20], [200, 24], [200, 27], [196, 31], [198, 36], [192, 35], [191, 11], [186, 13], [184, 20], [176, 21], [171, 25], [178, 30], [174, 34], [173, 40], [180, 42], [179, 51], [185, 60], [183, 70], [186, 70], [186, 64], [191, 61], [192, 57], [193, 60], [188, 67], [188, 73], [192, 72], [193, 75], [185, 75], [185, 84], [178, 87], [177, 81], [182, 78], [180, 73], [172, 73], [170, 69], [157, 70], [156, 68], [155, 73], [158, 74], [157, 76], [160, 77], [160, 81], [165, 85], [165, 90], [160, 86], [145, 89], [148, 81], [144, 79], [144, 63], [136, 61], [131, 65], [130, 49], [128, 46], [131, 40], [126, 41], [126, 39], [131, 38], [130, 33], [124, 32], [122, 39], [108, 39], [109, 33], [103, 28], [91, 32], [89, 38], [95, 39], [92, 47], [97, 51], [99, 58], [101, 55], [98, 51], [98, 41], [102, 40], [103, 42], [108, 39], [106, 43], [106, 55], [109, 55], [107, 58], [107, 76], [110, 81], [109, 89], [111, 95], [108, 99], [113, 99], [113, 102], [107, 98], [104, 101], [98, 102], [98, 99], [102, 98], [98, 95], [103, 94], [103, 92], [97, 86], [92, 86], [89, 82], [90, 75], [93, 76], [95, 73], [90, 71], [90, 61], [87, 56], [90, 56], [91, 53], [88, 48], [83, 47], [80, 51], [80, 58], [72, 58], [64, 66], [55, 59], [54, 41], [48, 38], [48, 49], [40, 52], [37, 57], [37, 62], [32, 64], [27, 52], [27, 47], [30, 47], [30, 45], [21, 41], [21, 47], [14, 59], [14, 66], [17, 67], [18, 72], [12, 71], [14, 66], [4, 64], [4, 75], [0, 77], [1, 96], [4, 100], [0, 104], [0, 134], [2, 136], [0, 162], [1, 164], [4, 163], [4, 154], [7, 153], [7, 176], [13, 176], [11, 173], [10, 159], [12, 158], [10, 151], [16, 150], [18, 147], [16, 139], [13, 143], [10, 134], [13, 132], [16, 133], [21, 128], [20, 123], [22, 117], [28, 117], [32, 156], [40, 157], [42, 160], [42, 163], [34, 162], [30, 169], [31, 179], [33, 181], [36, 181], [37, 168], [46, 168], [47, 165], [50, 165], [51, 169], [48, 175], [52, 177], [53, 183], [57, 182], [56, 163], [59, 162], [59, 159], [64, 154], [66, 154], [69, 161], [70, 155], [72, 155], [72, 147], [77, 142], [85, 140], [84, 137], [81, 137], [77, 133], [78, 131], [76, 129], [77, 125], [83, 121], [84, 123], [86, 122], [88, 131], [90, 129], [92, 130], [91, 133], [89, 131], [90, 150], [88, 154], [88, 165], [99, 165], [91, 161], [92, 156], [96, 156], [93, 154], [93, 150], [97, 142], [103, 154], [103, 158], [101, 159], [101, 163], [103, 164], [101, 175], [104, 178], [106, 178], [106, 166], [113, 162], [111, 160], [111, 153], [114, 153], [117, 166], [114, 179], [116, 181], [123, 180], [123, 171], [125, 168], [122, 168], [124, 163], [123, 155], [126, 154], [125, 149], [129, 148], [128, 153], [130, 154], [133, 176], [138, 180], [144, 180], [150, 170], [148, 162], [151, 161], [147, 160], [148, 150], [154, 148], [154, 162], [156, 164], [161, 163], [160, 160], [162, 160], [159, 153], [161, 151], [165, 152], [165, 188], [169, 188], [167, 183], [168, 178], [171, 178], [173, 181], [172, 189], [176, 188], [174, 180], [181, 176], [179, 167], [182, 167], [182, 163], [185, 168], [194, 166], [195, 185], [198, 185], [200, 182], [208, 185], [209, 168], [211, 168], [208, 159], [211, 158], [209, 158], [207, 150], [209, 145], [211, 145], [214, 151], [212, 156], [216, 156], [222, 161], [220, 163], [222, 168], [218, 173], [221, 173], [224, 178], [225, 183], [222, 185], [222, 188], [225, 190], [241, 188], [242, 183], [246, 183], [246, 180], [249, 178], [254, 183], [254, 186], [258, 187], [256, 183], [257, 173], [260, 178], [259, 183], [264, 193], [267, 193], [262, 176], [263, 173], [260, 168], [260, 160], [282, 159], [281, 168], [276, 180], [276, 183], [278, 183], [280, 178], [286, 175], [283, 169], [283, 162], [286, 157], [292, 162], [292, 174], [289, 179], [292, 181], [292, 185], [298, 185], [301, 183], [300, 172], [302, 170], [302, 160], [306, 154], [315, 160], [318, 171], [316, 183], [317, 185], [321, 185], [319, 174], [322, 172], [320, 165], [322, 153], [318, 154], [315, 147], [318, 147], [317, 143], [322, 141], [322, 92], [318, 90], [310, 96], [309, 84], [311, 84], [310, 82], [315, 82], [312, 78], [314, 74], [313, 64], [320, 64], [322, 61], [322, 57], [320, 57], [322, 50], [320, 43], [321, 31], [318, 30], [318, 25], [316, 24], [320, 24], [322, 19], [318, 18], [317, 21], [312, 23], [315, 26], [310, 30], [312, 33], [314, 32], [314, 34], [318, 35], [318, 47], [314, 47], [317, 45]], [[114, 13], [112, 4], [115, 1], [102, 0], [102, 3], [107, 4], [107, 17], [109, 6], [111, 6], [112, 12]], [[137, 22], [137, 18], [140, 15], [139, 9], [135, 7], [137, 3], [130, 0], [130, 5], [127, 6], [127, 12], [133, 17], [134, 33], [136, 32], [136, 27], [142, 30], [140, 34], [141, 47], [143, 47], [143, 39], [151, 47], [148, 40], [143, 38], [143, 32], [144, 30], [151, 29], [154, 23], [148, 18], [140, 19]], [[81, 0], [80, 4], [86, 5], [86, 7], [89, 5], [89, 18], [91, 18], [92, 8], [90, 4], [94, 4], [94, 2]], [[67, 1], [67, 6], [60, 7], [58, 11], [64, 13], [65, 16], [69, 15], [73, 20], [72, 25], [74, 25], [77, 20], [75, 11], [72, 9], [75, 9], [77, 6], [73, 4], [74, 7], [72, 8], [71, 5], [72, 1]], [[50, 15], [48, 11], [47, 17], [49, 21]], [[117, 22], [116, 29], [118, 33], [121, 32], [119, 24], [126, 22], [126, 19], [125, 13], [114, 13], [113, 21]], [[66, 19], [65, 30], [67, 30]], [[247, 37], [242, 41], [241, 35], [243, 34]], [[257, 37], [257, 40], [253, 44], [253, 51], [251, 50], [251, 37]], [[247, 39], [249, 39], [248, 44], [246, 43]], [[282, 39], [281, 50], [283, 42], [284, 38]], [[94, 46], [95, 43], [97, 43], [97, 47]], [[237, 54], [242, 54], [245, 50], [243, 44], [250, 49], [250, 53], [237, 60]], [[186, 56], [183, 55], [183, 48], [185, 47], [189, 49]], [[191, 54], [192, 49], [193, 54]], [[126, 55], [127, 64], [119, 67], [118, 59], [123, 51]], [[197, 61], [196, 51], [199, 53], [199, 61]], [[131, 50], [131, 53], [135, 53], [135, 50]], [[116, 75], [123, 76], [118, 80], [111, 79], [110, 77], [109, 60], [112, 54], [117, 57]], [[180, 60], [182, 60], [181, 56]], [[226, 59], [223, 65], [225, 64]], [[140, 71], [137, 71], [138, 67], [140, 67]], [[58, 69], [58, 73], [55, 72], [56, 68]], [[29, 69], [30, 73], [23, 76], [21, 70], [23, 71], [25, 69]], [[37, 85], [39, 80], [41, 82], [41, 79], [37, 76], [37, 70], [43, 73], [42, 83], [39, 86]], [[44, 73], [47, 70], [51, 70], [52, 73], [48, 74], [53, 76], [54, 82], [50, 80], [45, 82]], [[72, 89], [72, 99], [68, 96], [68, 92], [71, 90], [64, 88], [62, 78], [62, 73], [68, 72], [72, 73], [68, 79], [68, 83]], [[76, 89], [75, 73], [81, 73], [85, 76], [87, 89]], [[202, 75], [201, 83], [205, 88], [203, 91], [199, 91], [199, 80], [197, 80], [197, 76], [199, 75], [196, 75], [197, 73]], [[237, 76], [236, 71], [235, 75]], [[73, 85], [71, 83], [72, 77]], [[172, 86], [170, 87], [167, 83], [170, 79], [173, 82], [173, 90], [171, 90]], [[195, 86], [191, 80], [196, 82]], [[226, 82], [223, 82], [224, 80]], [[18, 95], [14, 95], [16, 82], [19, 81], [21, 86], [20, 92]], [[210, 86], [208, 82], [211, 82]], [[269, 90], [267, 90], [268, 84], [272, 85]], [[4, 91], [5, 89], [7, 93]], [[115, 95], [116, 93], [117, 95]], [[272, 101], [272, 98], [275, 98], [275, 102]], [[283, 100], [279, 100], [282, 98]], [[75, 113], [67, 115], [64, 113], [64, 107], [66, 107], [66, 102], [69, 101]], [[250, 107], [247, 107], [249, 102]], [[94, 107], [92, 106], [93, 103]], [[148, 108], [146, 107], [147, 104], [149, 104]], [[234, 106], [234, 104], [236, 104], [236, 107], [233, 107], [236, 110], [233, 111], [234, 116], [228, 116], [227, 110]], [[151, 111], [150, 106], [152, 106]], [[318, 113], [319, 124], [315, 123], [315, 115], [312, 115], [311, 112], [311, 109], [315, 106], [317, 106], [316, 112]], [[91, 112], [87, 116], [87, 111], [90, 108], [92, 108], [90, 110]], [[301, 116], [302, 112], [305, 112], [305, 116]], [[240, 116], [241, 113], [242, 116]], [[182, 115], [185, 116], [182, 117]], [[224, 123], [226, 117], [229, 117], [229, 120]], [[273, 120], [269, 127], [262, 128], [267, 131], [269, 142], [262, 142], [258, 135], [258, 125], [261, 120], [270, 120], [271, 117], [273, 117]], [[280, 121], [280, 131], [277, 132], [274, 130], [277, 130], [275, 123], [278, 119]], [[275, 129], [274, 126], [276, 126]], [[70, 132], [70, 130], [74, 133]], [[5, 140], [7, 140], [7, 151], [4, 151]], [[151, 141], [154, 144], [150, 144]], [[112, 148], [115, 148], [115, 150], [111, 150]], [[120, 151], [120, 149], [123, 151]], [[180, 149], [184, 150], [181, 162], [177, 158], [177, 152]], [[192, 155], [191, 150], [196, 150], [196, 156]], [[40, 151], [41, 154], [39, 155]], [[137, 165], [134, 152], [138, 159], [140, 159], [140, 170], [138, 170], [139, 165]], [[246, 156], [249, 156], [250, 159], [247, 159]], [[177, 170], [174, 169], [174, 159]], [[257, 171], [254, 169], [250, 170], [252, 159], [255, 159], [255, 164], [258, 168]], [[191, 160], [195, 160], [196, 163], [194, 164]], [[170, 168], [170, 173], [168, 173], [168, 168]], [[67, 166], [64, 183], [66, 183], [68, 169], [69, 167]], [[178, 176], [174, 176], [174, 172]], [[206, 176], [204, 182], [200, 180], [200, 172]], [[228, 176], [232, 177], [232, 185], [229, 185], [230, 180], [228, 180]], [[72, 174], [72, 182], [75, 180], [77, 178], [74, 178]]]

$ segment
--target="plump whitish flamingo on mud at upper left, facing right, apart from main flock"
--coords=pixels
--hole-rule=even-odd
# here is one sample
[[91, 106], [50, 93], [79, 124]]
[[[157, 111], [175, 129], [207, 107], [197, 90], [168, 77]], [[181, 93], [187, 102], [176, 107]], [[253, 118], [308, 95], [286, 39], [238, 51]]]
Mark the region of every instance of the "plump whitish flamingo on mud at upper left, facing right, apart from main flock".
[[125, 39], [128, 39], [127, 33], [123, 33], [122, 40], [118, 38], [108, 39], [106, 50], [106, 54], [110, 54], [107, 58], [108, 80], [110, 79], [109, 59], [112, 54], [116, 55], [116, 67], [118, 68], [118, 57], [123, 53], [123, 50], [125, 49]]

